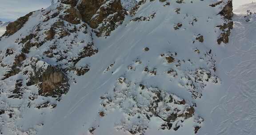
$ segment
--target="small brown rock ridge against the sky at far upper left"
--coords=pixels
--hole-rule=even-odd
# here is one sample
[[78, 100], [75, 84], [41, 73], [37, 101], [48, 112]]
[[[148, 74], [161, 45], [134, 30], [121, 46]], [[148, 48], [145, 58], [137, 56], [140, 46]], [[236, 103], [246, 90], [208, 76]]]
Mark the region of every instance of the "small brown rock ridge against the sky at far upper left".
[[31, 16], [32, 14], [33, 12], [30, 12], [27, 15], [20, 17], [16, 21], [8, 24], [8, 26], [6, 27], [6, 32], [3, 36], [11, 36], [18, 30], [20, 30], [20, 28], [23, 27], [23, 25], [28, 21], [29, 16]]

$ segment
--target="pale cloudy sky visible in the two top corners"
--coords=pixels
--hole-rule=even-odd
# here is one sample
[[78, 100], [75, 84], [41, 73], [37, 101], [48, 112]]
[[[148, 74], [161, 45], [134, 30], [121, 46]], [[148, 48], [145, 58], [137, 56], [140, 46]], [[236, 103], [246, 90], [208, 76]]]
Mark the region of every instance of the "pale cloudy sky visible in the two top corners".
[[[256, 0], [254, 0], [256, 2]], [[233, 0], [234, 8], [252, 0]], [[51, 0], [0, 0], [0, 20], [13, 21], [28, 12], [47, 8]]]

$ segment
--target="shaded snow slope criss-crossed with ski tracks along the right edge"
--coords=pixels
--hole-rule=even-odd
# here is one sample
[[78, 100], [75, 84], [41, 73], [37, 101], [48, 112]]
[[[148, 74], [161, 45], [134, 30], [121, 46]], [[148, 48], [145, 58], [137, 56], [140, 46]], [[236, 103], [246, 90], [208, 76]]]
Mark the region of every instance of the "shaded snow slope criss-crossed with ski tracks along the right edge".
[[[225, 72], [231, 79], [230, 87], [220, 99], [220, 103], [211, 112], [212, 115], [223, 117], [220, 118], [222, 121], [216, 126], [214, 135], [255, 135], [256, 45], [249, 46], [248, 50], [248, 47], [246, 49], [243, 48], [246, 44], [235, 46], [237, 41], [239, 42], [240, 40], [256, 43], [255, 39], [251, 39], [250, 35], [248, 35], [248, 30], [254, 28], [250, 23], [246, 24], [242, 16], [235, 18], [233, 33], [240, 32], [240, 34], [232, 35], [231, 40], [233, 42], [228, 47], [229, 49], [234, 49], [234, 55], [224, 58], [220, 64], [233, 61], [236, 66], [232, 70]], [[222, 114], [216, 114], [216, 110], [222, 110]]]

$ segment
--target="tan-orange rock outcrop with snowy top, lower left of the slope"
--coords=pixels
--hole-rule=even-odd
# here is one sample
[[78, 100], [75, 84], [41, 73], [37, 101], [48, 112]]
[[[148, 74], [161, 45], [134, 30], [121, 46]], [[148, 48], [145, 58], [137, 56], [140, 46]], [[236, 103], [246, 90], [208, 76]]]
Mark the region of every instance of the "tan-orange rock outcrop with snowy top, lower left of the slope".
[[41, 96], [51, 96], [60, 99], [61, 95], [68, 92], [68, 78], [58, 67], [53, 67], [43, 61], [31, 58], [28, 66], [32, 71], [27, 72], [27, 86], [38, 85], [38, 94]]

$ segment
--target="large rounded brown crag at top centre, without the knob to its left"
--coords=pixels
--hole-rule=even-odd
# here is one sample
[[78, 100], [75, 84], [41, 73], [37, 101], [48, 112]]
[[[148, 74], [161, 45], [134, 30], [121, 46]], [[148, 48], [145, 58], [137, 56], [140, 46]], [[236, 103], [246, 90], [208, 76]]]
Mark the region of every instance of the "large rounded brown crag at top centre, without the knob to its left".
[[97, 36], [109, 36], [122, 24], [125, 16], [120, 0], [82, 0], [77, 8], [84, 22], [96, 29]]

